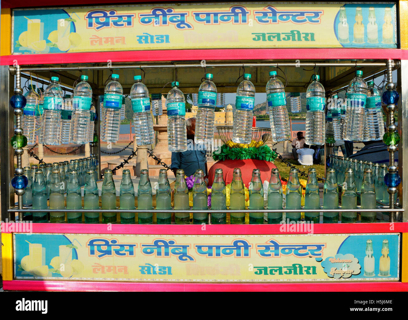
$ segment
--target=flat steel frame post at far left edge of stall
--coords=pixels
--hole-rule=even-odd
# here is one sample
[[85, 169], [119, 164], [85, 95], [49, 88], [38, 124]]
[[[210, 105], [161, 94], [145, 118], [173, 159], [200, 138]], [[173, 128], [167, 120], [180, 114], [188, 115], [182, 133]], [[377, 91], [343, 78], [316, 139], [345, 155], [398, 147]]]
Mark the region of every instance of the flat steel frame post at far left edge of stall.
[[[14, 149], [10, 144], [10, 138], [14, 131], [14, 113], [10, 106], [10, 96], [13, 94], [14, 81], [9, 73], [9, 66], [0, 66], [0, 192], [1, 192], [1, 221], [10, 221], [10, 213], [7, 210], [14, 207], [14, 188], [11, 186], [11, 178], [14, 175]], [[13, 217], [14, 220], [14, 217]]]

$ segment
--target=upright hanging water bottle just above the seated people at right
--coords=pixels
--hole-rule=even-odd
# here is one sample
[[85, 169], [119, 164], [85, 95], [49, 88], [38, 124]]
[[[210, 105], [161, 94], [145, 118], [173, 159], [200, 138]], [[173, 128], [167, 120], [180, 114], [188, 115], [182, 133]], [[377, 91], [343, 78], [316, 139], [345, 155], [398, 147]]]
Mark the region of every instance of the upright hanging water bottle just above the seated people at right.
[[325, 90], [319, 82], [319, 75], [313, 75], [312, 79], [306, 91], [306, 143], [309, 146], [324, 144], [326, 135]]

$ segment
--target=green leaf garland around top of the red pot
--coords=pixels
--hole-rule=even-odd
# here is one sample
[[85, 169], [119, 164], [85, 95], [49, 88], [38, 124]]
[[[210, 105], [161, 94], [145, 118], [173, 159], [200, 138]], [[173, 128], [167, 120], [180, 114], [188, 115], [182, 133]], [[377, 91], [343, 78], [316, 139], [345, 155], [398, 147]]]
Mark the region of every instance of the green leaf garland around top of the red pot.
[[276, 158], [276, 152], [266, 145], [259, 148], [229, 148], [224, 144], [220, 150], [213, 152], [215, 161], [256, 159], [273, 162]]

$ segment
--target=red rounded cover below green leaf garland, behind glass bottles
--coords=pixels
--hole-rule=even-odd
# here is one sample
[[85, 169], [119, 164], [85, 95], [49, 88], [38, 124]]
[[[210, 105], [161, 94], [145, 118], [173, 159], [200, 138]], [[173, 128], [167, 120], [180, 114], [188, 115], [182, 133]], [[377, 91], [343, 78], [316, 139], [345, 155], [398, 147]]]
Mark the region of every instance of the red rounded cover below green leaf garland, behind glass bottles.
[[259, 169], [261, 171], [261, 179], [264, 183], [265, 180], [271, 179], [271, 170], [276, 166], [272, 162], [254, 159], [217, 161], [208, 171], [208, 184], [213, 185], [215, 169], [222, 169], [225, 183], [231, 183], [235, 168], [241, 169], [242, 181], [248, 187], [252, 178], [252, 170]]

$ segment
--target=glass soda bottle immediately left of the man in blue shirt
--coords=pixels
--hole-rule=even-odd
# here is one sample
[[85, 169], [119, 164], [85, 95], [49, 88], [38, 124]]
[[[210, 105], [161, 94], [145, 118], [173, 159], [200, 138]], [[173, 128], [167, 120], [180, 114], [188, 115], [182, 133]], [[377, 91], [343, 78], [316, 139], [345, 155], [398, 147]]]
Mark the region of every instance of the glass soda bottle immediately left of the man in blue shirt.
[[[156, 189], [156, 209], [171, 210], [171, 189], [166, 169], [160, 169], [159, 171], [159, 181], [157, 181]], [[171, 212], [157, 212], [156, 216], [158, 225], [171, 224]]]

